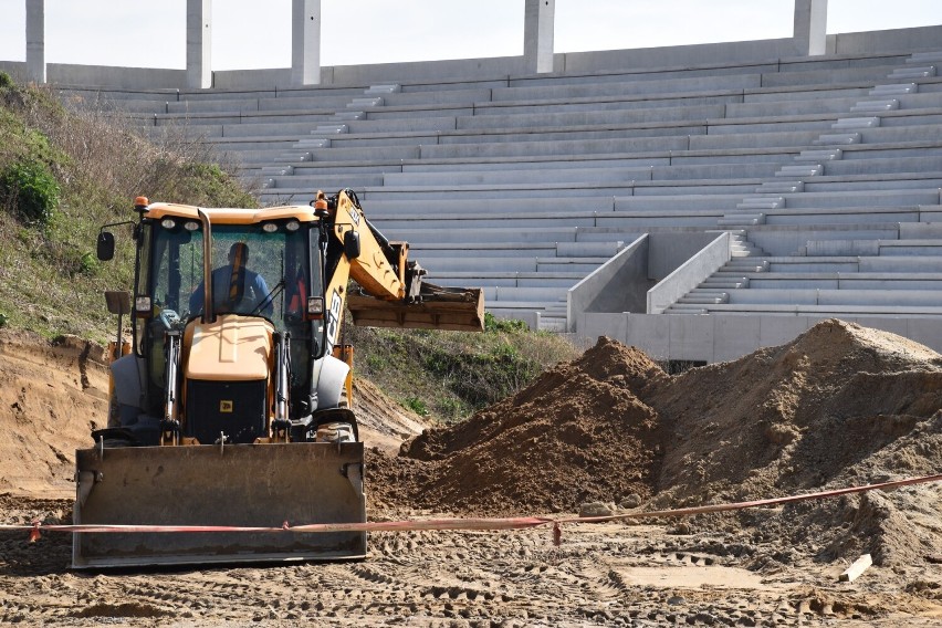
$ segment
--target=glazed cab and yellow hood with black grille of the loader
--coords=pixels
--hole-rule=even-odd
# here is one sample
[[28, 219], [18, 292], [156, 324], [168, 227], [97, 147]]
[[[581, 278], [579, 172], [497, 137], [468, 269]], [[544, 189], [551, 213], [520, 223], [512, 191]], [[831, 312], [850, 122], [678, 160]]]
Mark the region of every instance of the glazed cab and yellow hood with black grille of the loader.
[[[168, 396], [165, 342], [168, 334], [182, 335], [182, 391], [193, 394], [171, 411], [186, 419], [187, 436], [205, 442], [217, 438], [218, 425], [229, 426], [233, 442], [266, 436], [266, 400], [281, 359], [275, 345], [287, 347], [287, 414], [311, 412], [312, 369], [324, 353], [318, 226], [303, 207], [154, 203], [143, 214], [135, 349], [147, 365], [147, 397], [157, 406]], [[249, 416], [239, 418], [240, 412]]]

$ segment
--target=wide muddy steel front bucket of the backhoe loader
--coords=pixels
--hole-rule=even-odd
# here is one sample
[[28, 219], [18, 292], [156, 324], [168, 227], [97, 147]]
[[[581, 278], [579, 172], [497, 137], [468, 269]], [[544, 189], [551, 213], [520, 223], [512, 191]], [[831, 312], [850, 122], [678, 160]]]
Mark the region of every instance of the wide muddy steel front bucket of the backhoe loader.
[[[281, 527], [363, 523], [363, 443], [75, 452], [76, 524]], [[365, 532], [73, 534], [73, 568], [363, 558]]]

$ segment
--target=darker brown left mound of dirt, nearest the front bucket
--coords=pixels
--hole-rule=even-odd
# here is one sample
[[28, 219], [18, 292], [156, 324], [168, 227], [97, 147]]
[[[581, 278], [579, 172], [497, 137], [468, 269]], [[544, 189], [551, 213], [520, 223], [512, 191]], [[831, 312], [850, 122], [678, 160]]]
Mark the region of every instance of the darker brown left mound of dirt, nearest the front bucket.
[[496, 514], [648, 498], [661, 438], [656, 412], [629, 385], [647, 390], [666, 379], [643, 353], [600, 338], [468, 421], [409, 441], [408, 461], [377, 460], [380, 499]]

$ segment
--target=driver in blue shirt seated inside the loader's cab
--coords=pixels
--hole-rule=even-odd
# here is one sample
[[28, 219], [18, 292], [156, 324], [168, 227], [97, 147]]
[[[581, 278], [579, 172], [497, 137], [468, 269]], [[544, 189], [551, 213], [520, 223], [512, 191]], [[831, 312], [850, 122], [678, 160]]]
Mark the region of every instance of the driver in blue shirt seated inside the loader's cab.
[[[249, 270], [249, 245], [236, 242], [229, 249], [229, 263], [212, 271], [212, 306], [219, 314], [272, 315], [272, 295], [259, 273]], [[190, 315], [202, 312], [203, 282], [190, 294]]]

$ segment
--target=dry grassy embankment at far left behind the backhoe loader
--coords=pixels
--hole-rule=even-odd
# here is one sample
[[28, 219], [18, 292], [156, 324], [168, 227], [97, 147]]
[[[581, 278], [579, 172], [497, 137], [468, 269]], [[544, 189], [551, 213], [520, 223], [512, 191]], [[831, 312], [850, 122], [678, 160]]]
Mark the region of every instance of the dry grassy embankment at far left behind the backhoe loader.
[[[67, 111], [52, 88], [17, 85], [0, 73], [0, 323], [98, 342], [113, 334], [102, 293], [129, 286], [133, 270], [98, 263], [102, 224], [135, 218], [140, 195], [258, 207], [207, 157], [197, 143], [155, 145], [116, 116]], [[48, 212], [31, 210], [30, 191], [56, 202]], [[118, 241], [126, 248], [118, 259], [133, 260], [130, 239]]]

